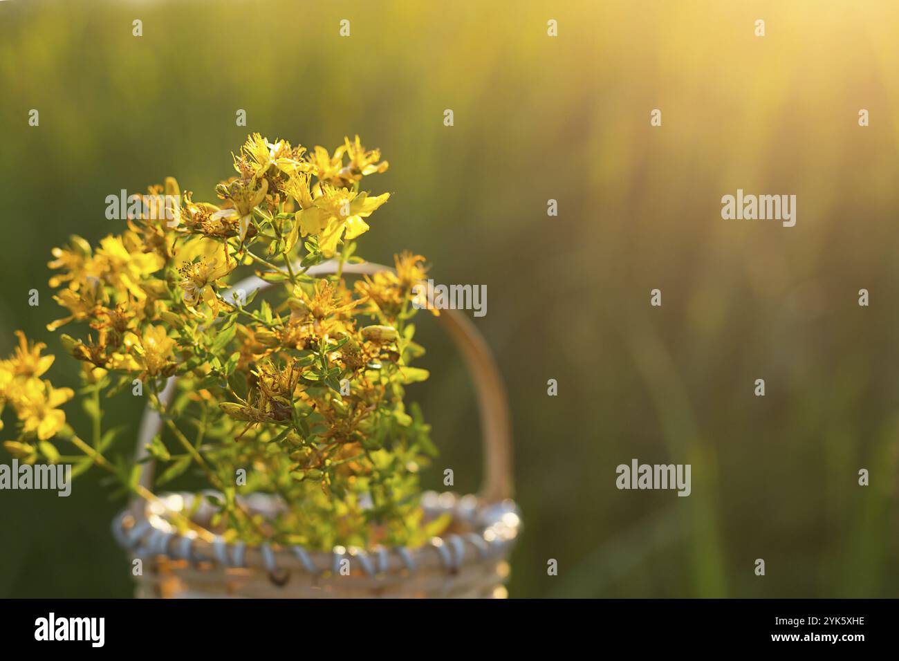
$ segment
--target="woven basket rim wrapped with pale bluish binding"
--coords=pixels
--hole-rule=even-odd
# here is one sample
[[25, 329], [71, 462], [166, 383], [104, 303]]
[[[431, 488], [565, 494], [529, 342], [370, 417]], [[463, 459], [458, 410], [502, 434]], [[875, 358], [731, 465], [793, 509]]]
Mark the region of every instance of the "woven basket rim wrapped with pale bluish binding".
[[[195, 498], [201, 498], [200, 514], [203, 507], [211, 507], [205, 496], [214, 493], [161, 494], [158, 496], [159, 503], [146, 503], [138, 515], [132, 507], [116, 516], [112, 523], [113, 535], [123, 549], [137, 557], [163, 555], [173, 560], [187, 560], [191, 564], [211, 562], [226, 568], [262, 569], [271, 576], [294, 570], [314, 576], [336, 574], [343, 560], [348, 560], [351, 570], [360, 568], [369, 576], [377, 576], [433, 568], [453, 573], [467, 565], [505, 558], [521, 529], [520, 512], [512, 499], [485, 504], [477, 496], [434, 491], [422, 494], [421, 505], [425, 515], [451, 514], [455, 521], [467, 524], [472, 531], [433, 537], [418, 548], [378, 546], [360, 549], [337, 546], [331, 551], [320, 551], [299, 545], [227, 542], [219, 535], [210, 543], [201, 540], [193, 531], [178, 533], [165, 520], [163, 505], [168, 510], [177, 511], [191, 507]], [[254, 509], [275, 501], [274, 496], [267, 494], [240, 497]]]

